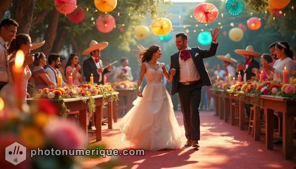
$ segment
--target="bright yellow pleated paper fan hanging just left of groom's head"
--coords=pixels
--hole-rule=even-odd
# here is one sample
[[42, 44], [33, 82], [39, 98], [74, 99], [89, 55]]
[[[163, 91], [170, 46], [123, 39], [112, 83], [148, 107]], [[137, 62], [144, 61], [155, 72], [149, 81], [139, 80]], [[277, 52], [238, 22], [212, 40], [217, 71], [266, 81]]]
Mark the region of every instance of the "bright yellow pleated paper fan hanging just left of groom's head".
[[168, 34], [171, 29], [172, 22], [167, 18], [157, 18], [151, 24], [151, 30], [157, 36]]

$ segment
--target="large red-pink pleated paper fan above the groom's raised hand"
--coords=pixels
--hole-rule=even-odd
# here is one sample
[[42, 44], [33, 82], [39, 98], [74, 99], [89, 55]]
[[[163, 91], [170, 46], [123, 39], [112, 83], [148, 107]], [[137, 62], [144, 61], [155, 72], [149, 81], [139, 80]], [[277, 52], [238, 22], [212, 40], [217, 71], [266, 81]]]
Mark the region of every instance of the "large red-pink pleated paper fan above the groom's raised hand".
[[195, 7], [193, 16], [198, 22], [212, 22], [218, 17], [218, 8], [213, 4], [202, 3]]

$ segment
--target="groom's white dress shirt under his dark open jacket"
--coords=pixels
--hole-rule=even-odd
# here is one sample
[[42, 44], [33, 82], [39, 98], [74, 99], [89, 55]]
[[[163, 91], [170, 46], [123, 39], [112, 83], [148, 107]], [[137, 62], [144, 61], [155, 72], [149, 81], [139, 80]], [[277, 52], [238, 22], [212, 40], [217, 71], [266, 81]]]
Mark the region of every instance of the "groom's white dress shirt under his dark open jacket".
[[[189, 47], [185, 50], [189, 50]], [[200, 74], [197, 71], [197, 68], [193, 62], [192, 57], [187, 59], [186, 61], [182, 60], [179, 52], [179, 67], [180, 67], [180, 80], [179, 82], [192, 82], [200, 80]]]

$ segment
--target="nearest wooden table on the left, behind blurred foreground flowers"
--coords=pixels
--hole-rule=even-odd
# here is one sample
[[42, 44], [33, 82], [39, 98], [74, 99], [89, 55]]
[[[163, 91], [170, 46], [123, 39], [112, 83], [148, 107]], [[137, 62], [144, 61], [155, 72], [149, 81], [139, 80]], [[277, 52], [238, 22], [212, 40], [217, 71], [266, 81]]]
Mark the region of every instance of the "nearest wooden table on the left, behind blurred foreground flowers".
[[[96, 105], [96, 141], [101, 141], [102, 140], [102, 108], [103, 108], [103, 96], [102, 95], [97, 95], [93, 96], [95, 100], [95, 105]], [[86, 103], [83, 102], [84, 99], [87, 99]], [[70, 110], [70, 112], [75, 112], [79, 111], [79, 124], [82, 128], [83, 131], [86, 132], [86, 137], [87, 137], [87, 109], [88, 107], [88, 97], [80, 97], [80, 98], [71, 98], [71, 99], [42, 99], [47, 102], [50, 102], [57, 110], [57, 114], [62, 116], [62, 103], [65, 103], [67, 109]], [[27, 99], [28, 104], [34, 104], [38, 99]]]

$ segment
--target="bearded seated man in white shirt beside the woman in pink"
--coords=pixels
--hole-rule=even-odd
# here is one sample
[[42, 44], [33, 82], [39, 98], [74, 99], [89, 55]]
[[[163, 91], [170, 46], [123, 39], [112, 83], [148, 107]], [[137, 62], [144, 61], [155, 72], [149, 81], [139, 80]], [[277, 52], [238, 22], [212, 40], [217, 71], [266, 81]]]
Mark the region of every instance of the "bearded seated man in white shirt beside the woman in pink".
[[[62, 73], [58, 70], [59, 66], [61, 65], [60, 62], [60, 54], [51, 53], [48, 56], [48, 64], [49, 66], [45, 69], [48, 72], [48, 77], [50, 81], [58, 84], [58, 76], [62, 76]], [[65, 82], [62, 80], [62, 84]]]

